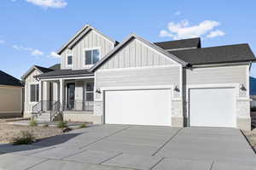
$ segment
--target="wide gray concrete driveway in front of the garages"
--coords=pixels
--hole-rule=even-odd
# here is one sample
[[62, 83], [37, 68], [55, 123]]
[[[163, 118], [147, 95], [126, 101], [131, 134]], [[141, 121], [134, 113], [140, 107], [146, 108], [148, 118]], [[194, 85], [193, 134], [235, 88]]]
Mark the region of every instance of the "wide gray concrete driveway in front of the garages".
[[238, 129], [102, 125], [32, 145], [0, 145], [0, 169], [252, 170], [256, 156]]

